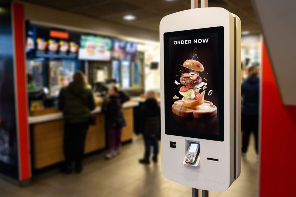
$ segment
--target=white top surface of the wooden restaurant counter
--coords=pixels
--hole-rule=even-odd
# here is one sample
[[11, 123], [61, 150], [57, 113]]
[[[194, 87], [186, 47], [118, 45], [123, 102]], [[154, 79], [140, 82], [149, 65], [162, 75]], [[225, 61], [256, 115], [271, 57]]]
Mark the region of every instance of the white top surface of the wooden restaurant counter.
[[[136, 107], [139, 106], [138, 102], [127, 102], [124, 103], [122, 108], [130, 108], [130, 107]], [[96, 114], [102, 112], [102, 107], [96, 107], [93, 111], [91, 111], [91, 114]], [[53, 114], [46, 114], [41, 116], [29, 116], [28, 122], [29, 124], [36, 124], [41, 122], [49, 122], [54, 120], [59, 120], [63, 118], [62, 112], [59, 113], [53, 113]]]

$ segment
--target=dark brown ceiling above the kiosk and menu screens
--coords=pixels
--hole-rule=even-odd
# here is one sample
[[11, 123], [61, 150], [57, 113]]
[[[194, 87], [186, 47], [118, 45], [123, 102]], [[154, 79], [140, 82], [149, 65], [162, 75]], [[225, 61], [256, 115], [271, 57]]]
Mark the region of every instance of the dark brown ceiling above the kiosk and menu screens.
[[[23, 0], [54, 9], [89, 16], [142, 29], [159, 31], [160, 20], [168, 14], [190, 9], [190, 0]], [[242, 21], [242, 31], [259, 33], [250, 0], [208, 0], [208, 7], [223, 7]], [[122, 17], [132, 14], [136, 20]]]

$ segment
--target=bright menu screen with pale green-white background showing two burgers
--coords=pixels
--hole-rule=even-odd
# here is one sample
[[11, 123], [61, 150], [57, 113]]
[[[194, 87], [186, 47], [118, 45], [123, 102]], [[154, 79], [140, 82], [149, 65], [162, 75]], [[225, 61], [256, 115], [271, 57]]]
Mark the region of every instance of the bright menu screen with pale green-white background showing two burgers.
[[81, 35], [78, 58], [80, 60], [110, 61], [112, 41], [106, 37]]

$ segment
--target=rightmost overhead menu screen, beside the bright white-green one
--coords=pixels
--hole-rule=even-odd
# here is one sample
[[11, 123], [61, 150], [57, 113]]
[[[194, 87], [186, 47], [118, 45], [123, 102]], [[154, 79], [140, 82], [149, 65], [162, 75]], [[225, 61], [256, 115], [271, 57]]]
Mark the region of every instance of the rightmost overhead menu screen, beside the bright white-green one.
[[137, 51], [137, 43], [125, 40], [113, 39], [112, 58], [116, 60], [134, 61]]

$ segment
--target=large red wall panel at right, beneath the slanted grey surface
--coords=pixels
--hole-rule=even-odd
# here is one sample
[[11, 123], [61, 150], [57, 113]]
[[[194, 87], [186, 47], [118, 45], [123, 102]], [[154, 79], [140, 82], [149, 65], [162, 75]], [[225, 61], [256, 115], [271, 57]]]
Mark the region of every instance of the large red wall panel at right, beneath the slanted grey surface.
[[296, 196], [296, 106], [281, 103], [264, 43], [262, 50], [259, 196]]

